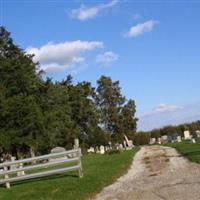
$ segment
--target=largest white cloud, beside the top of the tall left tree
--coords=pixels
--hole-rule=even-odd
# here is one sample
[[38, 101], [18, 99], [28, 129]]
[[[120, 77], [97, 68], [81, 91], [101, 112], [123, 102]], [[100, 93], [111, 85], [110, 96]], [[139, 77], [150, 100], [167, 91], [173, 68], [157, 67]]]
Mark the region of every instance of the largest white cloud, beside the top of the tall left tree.
[[46, 72], [58, 72], [69, 69], [71, 65], [83, 63], [82, 56], [87, 51], [102, 48], [103, 43], [99, 41], [71, 41], [63, 43], [48, 43], [39, 48], [29, 47], [28, 54], [34, 54], [34, 62], [39, 62], [41, 69]]

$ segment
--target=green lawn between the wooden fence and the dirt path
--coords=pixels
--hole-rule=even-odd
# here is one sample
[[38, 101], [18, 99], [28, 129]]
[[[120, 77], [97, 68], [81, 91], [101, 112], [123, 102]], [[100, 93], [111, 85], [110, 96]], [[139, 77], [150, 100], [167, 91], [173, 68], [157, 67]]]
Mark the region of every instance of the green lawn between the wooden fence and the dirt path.
[[76, 172], [0, 188], [0, 200], [83, 200], [89, 199], [103, 187], [126, 172], [139, 148], [113, 155], [86, 155], [82, 157], [84, 177]]

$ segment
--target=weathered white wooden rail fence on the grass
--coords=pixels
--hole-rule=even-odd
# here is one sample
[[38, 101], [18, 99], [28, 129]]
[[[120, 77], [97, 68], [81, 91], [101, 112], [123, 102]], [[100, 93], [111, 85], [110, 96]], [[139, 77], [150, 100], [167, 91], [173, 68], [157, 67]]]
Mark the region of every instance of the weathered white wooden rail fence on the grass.
[[[69, 165], [67, 163], [69, 163]], [[52, 166], [55, 167], [55, 169], [49, 170], [48, 168]], [[79, 172], [79, 177], [83, 177], [80, 148], [33, 158], [4, 162], [0, 164], [0, 168], [4, 169], [3, 171], [0, 171], [0, 184], [5, 184], [7, 188], [10, 188], [11, 182], [61, 174], [67, 171], [77, 170]], [[36, 172], [31, 172], [32, 170], [35, 170]], [[39, 170], [43, 171], [37, 172]], [[28, 171], [29, 174], [26, 173]]]

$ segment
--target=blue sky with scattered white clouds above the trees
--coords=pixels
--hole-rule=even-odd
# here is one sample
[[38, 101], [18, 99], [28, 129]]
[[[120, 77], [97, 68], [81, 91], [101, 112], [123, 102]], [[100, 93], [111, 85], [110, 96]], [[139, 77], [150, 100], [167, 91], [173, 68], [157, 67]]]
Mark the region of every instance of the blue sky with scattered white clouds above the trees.
[[200, 119], [200, 0], [0, 0], [0, 23], [54, 80], [119, 80], [140, 130]]

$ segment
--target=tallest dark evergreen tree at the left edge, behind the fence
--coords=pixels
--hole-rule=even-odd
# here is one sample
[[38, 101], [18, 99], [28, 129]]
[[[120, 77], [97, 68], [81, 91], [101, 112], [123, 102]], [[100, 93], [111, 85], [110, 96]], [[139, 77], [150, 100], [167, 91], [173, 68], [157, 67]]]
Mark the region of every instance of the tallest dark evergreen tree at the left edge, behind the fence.
[[[40, 82], [36, 69], [32, 56], [26, 55], [13, 43], [10, 33], [0, 27], [0, 88], [4, 90], [0, 134], [6, 144], [3, 142], [2, 148], [15, 154], [23, 145], [29, 146], [30, 153], [34, 154], [36, 135], [43, 130], [36, 98]], [[23, 140], [24, 134], [30, 139]]]

